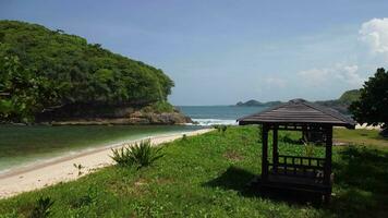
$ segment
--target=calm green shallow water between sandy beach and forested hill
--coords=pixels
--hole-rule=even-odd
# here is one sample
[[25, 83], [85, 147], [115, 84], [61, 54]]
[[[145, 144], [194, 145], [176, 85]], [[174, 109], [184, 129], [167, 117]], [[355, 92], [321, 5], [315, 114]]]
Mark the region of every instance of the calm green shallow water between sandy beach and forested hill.
[[198, 129], [186, 125], [0, 125], [0, 173], [64, 154]]

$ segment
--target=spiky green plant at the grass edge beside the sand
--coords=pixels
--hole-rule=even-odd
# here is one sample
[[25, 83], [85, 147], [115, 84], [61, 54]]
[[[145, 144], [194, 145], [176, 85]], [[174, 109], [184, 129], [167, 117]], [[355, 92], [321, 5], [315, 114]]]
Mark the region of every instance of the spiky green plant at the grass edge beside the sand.
[[150, 141], [142, 141], [133, 146], [123, 146], [118, 149], [112, 149], [111, 158], [122, 167], [136, 166], [137, 169], [150, 166], [155, 160], [161, 158], [162, 148], [153, 147]]

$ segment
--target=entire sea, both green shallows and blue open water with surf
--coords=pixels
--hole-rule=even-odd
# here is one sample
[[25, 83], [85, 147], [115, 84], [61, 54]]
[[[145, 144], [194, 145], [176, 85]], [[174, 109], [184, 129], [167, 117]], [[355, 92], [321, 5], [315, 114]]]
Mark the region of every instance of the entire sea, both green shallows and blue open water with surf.
[[0, 174], [63, 155], [109, 146], [124, 141], [182, 133], [214, 124], [235, 125], [238, 118], [265, 107], [180, 106], [192, 125], [0, 125]]

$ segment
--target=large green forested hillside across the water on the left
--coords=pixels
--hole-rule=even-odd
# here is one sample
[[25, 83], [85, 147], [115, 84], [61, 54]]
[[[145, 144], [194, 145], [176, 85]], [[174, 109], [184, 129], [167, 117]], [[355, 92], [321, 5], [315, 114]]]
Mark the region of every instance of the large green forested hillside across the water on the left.
[[159, 69], [36, 24], [0, 21], [0, 120], [33, 121], [66, 108], [165, 102], [173, 82]]

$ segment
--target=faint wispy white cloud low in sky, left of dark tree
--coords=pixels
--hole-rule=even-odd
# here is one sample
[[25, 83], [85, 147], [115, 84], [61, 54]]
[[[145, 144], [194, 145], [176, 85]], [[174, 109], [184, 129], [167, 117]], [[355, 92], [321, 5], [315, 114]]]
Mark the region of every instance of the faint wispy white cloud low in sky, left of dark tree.
[[298, 75], [304, 80], [304, 83], [307, 86], [341, 82], [347, 83], [350, 86], [359, 87], [364, 82], [364, 78], [357, 73], [357, 65], [336, 64], [332, 68], [301, 71]]

